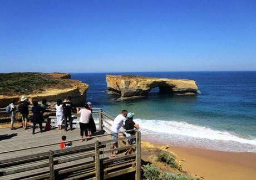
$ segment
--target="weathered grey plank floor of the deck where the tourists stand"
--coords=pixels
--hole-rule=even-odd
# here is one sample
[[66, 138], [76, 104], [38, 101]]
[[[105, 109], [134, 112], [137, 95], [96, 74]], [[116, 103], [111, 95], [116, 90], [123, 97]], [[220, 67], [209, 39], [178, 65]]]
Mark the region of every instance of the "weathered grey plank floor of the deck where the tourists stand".
[[[98, 131], [98, 134], [104, 134], [104, 131]], [[10, 150], [17, 150], [21, 148], [27, 147], [35, 147], [41, 145], [47, 145], [51, 143], [58, 143], [61, 141], [61, 136], [67, 136], [67, 141], [70, 140], [77, 140], [80, 138], [80, 128], [76, 128], [73, 131], [65, 132], [63, 129], [58, 130], [53, 129], [50, 131], [46, 131], [40, 133], [40, 128], [36, 128], [36, 134], [32, 135], [32, 128], [28, 128], [27, 130], [23, 130], [23, 128], [18, 128], [17, 130], [10, 130], [9, 128], [0, 129], [0, 152], [3, 151], [10, 151]], [[110, 140], [110, 136], [103, 136], [100, 138], [91, 138], [91, 140], [86, 141], [76, 141], [73, 142], [72, 147], [86, 145], [88, 143], [94, 143], [95, 140], [105, 141]], [[53, 146], [45, 146], [40, 148], [31, 150], [24, 150], [24, 151], [17, 151], [17, 152], [10, 152], [4, 153], [0, 155], [0, 160], [5, 160], [7, 158], [19, 157], [19, 156], [26, 156], [31, 155], [31, 153], [40, 153], [46, 152], [50, 150], [59, 150], [60, 145], [53, 145]]]

